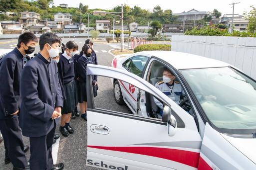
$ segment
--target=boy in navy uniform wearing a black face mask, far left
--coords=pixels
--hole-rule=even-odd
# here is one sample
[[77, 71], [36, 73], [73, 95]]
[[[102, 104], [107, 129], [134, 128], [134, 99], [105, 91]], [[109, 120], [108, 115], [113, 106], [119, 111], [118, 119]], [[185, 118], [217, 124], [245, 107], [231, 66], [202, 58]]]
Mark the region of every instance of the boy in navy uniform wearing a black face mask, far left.
[[[18, 37], [17, 47], [0, 60], [0, 131], [4, 140], [5, 164], [13, 170], [27, 170], [22, 133], [18, 126], [20, 113], [20, 79], [26, 54], [33, 53], [38, 42], [31, 32]], [[28, 148], [26, 149], [28, 150]]]

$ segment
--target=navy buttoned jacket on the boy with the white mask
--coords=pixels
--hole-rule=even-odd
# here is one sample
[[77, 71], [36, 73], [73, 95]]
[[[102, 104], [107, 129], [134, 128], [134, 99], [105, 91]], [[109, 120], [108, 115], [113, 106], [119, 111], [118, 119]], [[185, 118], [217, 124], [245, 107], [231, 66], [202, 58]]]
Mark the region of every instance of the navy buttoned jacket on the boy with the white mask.
[[20, 91], [22, 134], [27, 137], [47, 135], [57, 120], [51, 120], [55, 107], [63, 106], [56, 61], [47, 61], [38, 53], [23, 68]]

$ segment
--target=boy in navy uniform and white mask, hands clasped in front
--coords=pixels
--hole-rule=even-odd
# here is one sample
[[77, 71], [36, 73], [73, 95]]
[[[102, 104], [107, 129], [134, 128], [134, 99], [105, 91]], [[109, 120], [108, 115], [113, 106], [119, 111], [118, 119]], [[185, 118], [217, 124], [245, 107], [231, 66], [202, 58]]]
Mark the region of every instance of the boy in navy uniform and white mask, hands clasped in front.
[[52, 143], [63, 97], [58, 80], [58, 67], [52, 60], [58, 55], [60, 38], [50, 32], [39, 40], [40, 52], [23, 68], [20, 91], [20, 128], [30, 141], [30, 170], [62, 170], [53, 165]]

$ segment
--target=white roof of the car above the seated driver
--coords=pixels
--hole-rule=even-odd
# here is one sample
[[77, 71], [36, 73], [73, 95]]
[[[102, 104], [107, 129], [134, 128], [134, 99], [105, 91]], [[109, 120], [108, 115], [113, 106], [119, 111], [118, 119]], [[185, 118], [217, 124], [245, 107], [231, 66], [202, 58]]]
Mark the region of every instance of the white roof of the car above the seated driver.
[[194, 55], [188, 53], [181, 53], [175, 51], [143, 51], [136, 54], [152, 55], [156, 58], [166, 61], [177, 70], [181, 69], [197, 69], [197, 68], [214, 68], [214, 67], [228, 67], [228, 63], [222, 61]]

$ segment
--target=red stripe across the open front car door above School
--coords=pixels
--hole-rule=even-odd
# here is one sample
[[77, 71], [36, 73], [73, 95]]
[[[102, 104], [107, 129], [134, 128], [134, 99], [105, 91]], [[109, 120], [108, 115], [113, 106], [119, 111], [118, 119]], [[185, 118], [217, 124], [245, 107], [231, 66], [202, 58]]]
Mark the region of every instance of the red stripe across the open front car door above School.
[[194, 168], [198, 167], [200, 153], [170, 149], [170, 148], [155, 148], [155, 147], [103, 147], [103, 146], [88, 146], [89, 148], [103, 149], [110, 151], [126, 152], [139, 155], [147, 155], [151, 157], [171, 160], [181, 164], [185, 164]]

